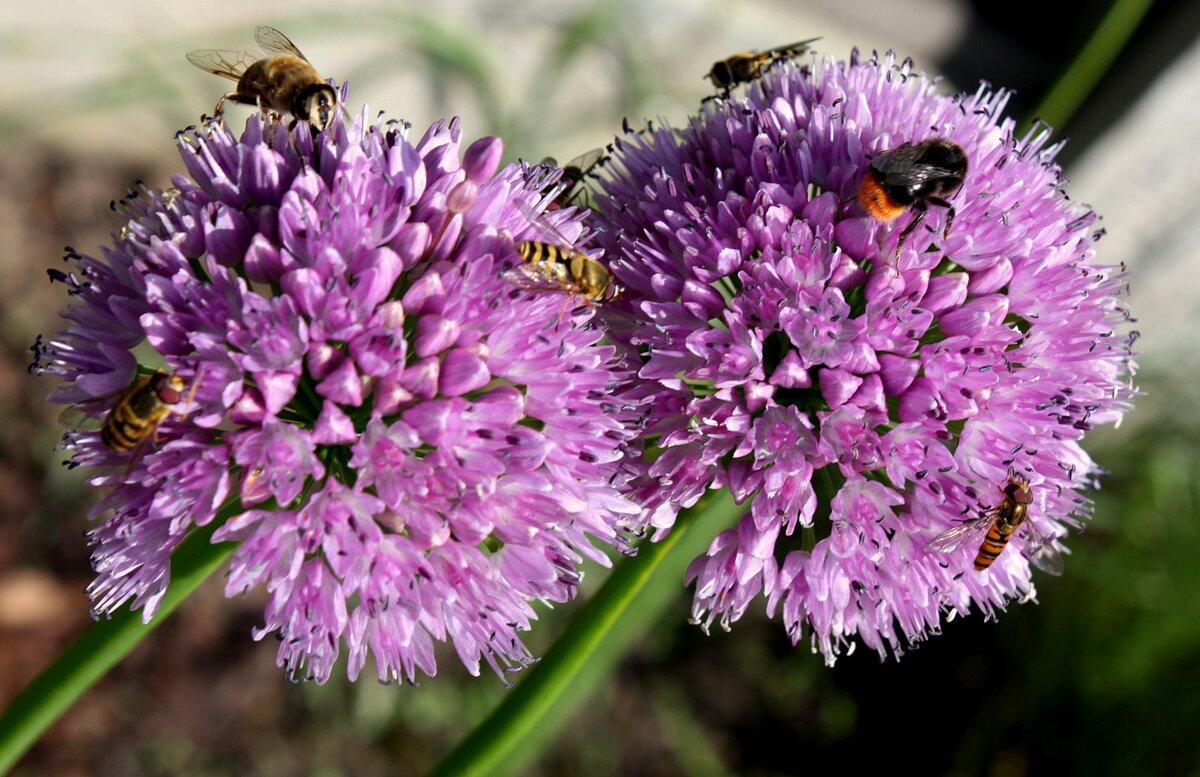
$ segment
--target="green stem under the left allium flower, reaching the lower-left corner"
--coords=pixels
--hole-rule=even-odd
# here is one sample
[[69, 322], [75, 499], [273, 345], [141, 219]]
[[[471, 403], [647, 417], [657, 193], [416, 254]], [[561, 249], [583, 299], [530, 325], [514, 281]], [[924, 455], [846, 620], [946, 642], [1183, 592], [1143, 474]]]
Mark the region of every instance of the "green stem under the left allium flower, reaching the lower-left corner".
[[[236, 510], [235, 510], [236, 508]], [[212, 532], [241, 510], [227, 507], [181, 543], [170, 560], [170, 586], [149, 624], [121, 609], [92, 624], [34, 679], [0, 716], [0, 773], [6, 773], [66, 710], [127, 656], [233, 553], [235, 543], [212, 544]]]

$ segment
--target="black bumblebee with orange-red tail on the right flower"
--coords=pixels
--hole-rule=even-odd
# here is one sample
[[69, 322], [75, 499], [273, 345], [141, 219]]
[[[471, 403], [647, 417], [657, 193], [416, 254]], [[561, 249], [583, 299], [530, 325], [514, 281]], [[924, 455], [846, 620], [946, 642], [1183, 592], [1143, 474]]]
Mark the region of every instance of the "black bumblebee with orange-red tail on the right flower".
[[858, 199], [874, 218], [893, 222], [907, 210], [917, 211], [898, 246], [904, 245], [922, 222], [930, 205], [946, 209], [946, 229], [954, 223], [954, 206], [948, 199], [959, 191], [967, 175], [967, 155], [959, 144], [946, 138], [930, 138], [916, 145], [905, 143], [871, 159], [858, 187]]

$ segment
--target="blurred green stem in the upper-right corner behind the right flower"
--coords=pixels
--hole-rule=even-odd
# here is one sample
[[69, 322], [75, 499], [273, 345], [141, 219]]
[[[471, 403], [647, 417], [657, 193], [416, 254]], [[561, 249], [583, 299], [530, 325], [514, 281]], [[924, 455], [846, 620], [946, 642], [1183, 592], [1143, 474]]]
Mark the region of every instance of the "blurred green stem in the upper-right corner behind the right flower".
[[[1092, 37], [1031, 115], [1061, 130], [1116, 61], [1153, 0], [1114, 0]], [[1030, 122], [1026, 122], [1028, 127]]]

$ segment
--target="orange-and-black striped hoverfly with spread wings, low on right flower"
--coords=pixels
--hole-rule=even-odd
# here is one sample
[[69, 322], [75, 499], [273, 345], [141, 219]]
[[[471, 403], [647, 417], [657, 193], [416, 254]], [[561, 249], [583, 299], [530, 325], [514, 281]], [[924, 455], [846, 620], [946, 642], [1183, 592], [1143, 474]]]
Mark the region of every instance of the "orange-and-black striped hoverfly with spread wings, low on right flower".
[[1032, 522], [1027, 522], [1033, 493], [1030, 481], [1009, 472], [1008, 483], [1002, 489], [1004, 498], [984, 514], [958, 526], [947, 529], [925, 546], [931, 553], [954, 553], [959, 548], [979, 543], [974, 568], [984, 571], [1004, 550], [1016, 530], [1025, 526], [1022, 555], [1030, 564], [1048, 574], [1062, 574], [1062, 554], [1054, 547], [1054, 537], [1042, 535]]

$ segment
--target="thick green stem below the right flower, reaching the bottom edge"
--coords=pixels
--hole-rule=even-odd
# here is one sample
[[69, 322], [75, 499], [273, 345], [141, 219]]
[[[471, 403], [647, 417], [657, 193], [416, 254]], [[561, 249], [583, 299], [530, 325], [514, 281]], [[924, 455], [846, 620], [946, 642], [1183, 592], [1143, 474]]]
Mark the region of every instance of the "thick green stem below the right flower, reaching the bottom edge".
[[742, 512], [727, 492], [712, 493], [680, 513], [670, 536], [643, 543], [636, 556], [622, 561], [541, 662], [433, 775], [514, 773], [535, 757], [628, 646], [678, 601], [688, 564]]

